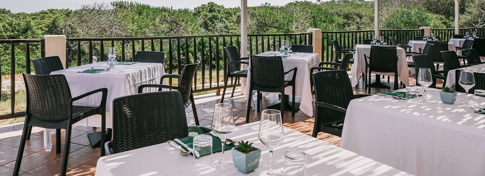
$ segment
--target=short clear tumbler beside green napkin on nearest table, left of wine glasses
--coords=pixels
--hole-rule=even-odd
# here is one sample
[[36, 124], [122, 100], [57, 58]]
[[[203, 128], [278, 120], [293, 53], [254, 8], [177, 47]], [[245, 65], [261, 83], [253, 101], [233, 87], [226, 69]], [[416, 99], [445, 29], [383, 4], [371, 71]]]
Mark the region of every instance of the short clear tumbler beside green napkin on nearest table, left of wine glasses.
[[194, 150], [199, 153], [199, 157], [194, 155], [194, 165], [196, 166], [208, 166], [212, 163], [210, 157], [202, 158], [212, 154], [212, 136], [210, 135], [198, 135], [194, 137], [193, 143]]

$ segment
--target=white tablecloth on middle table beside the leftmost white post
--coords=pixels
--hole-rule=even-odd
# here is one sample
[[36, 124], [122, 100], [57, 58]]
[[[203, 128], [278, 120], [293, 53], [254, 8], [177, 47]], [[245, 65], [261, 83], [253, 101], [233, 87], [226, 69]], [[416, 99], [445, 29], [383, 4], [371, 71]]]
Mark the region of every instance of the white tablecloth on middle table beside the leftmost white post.
[[[257, 56], [274, 56], [275, 54], [278, 54], [278, 56], [282, 55], [279, 54], [278, 51], [267, 51], [258, 54]], [[310, 89], [310, 68], [318, 66], [320, 61], [320, 55], [318, 53], [291, 54], [291, 57], [283, 59], [283, 67], [285, 72], [295, 67], [298, 68], [295, 80], [295, 96], [301, 96], [300, 110], [310, 117], [313, 116], [313, 96]], [[285, 80], [291, 80], [291, 78], [293, 78], [292, 72], [285, 75]], [[254, 95], [254, 93], [256, 93], [256, 91], [249, 93], [250, 82], [251, 72], [248, 72], [246, 79], [246, 93], [244, 96], [246, 102], [252, 98], [249, 97], [249, 95]], [[285, 94], [292, 95], [291, 89], [291, 86], [285, 88]], [[254, 105], [254, 101], [251, 101], [251, 105]]]

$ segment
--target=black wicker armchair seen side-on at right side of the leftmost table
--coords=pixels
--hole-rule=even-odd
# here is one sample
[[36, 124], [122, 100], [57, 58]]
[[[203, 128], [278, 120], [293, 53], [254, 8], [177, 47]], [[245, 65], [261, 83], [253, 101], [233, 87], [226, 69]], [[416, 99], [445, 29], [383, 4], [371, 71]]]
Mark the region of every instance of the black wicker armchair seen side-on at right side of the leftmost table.
[[[192, 103], [192, 112], [194, 113], [195, 125], [199, 125], [199, 118], [197, 117], [197, 111], [195, 107], [194, 94], [192, 93], [192, 83], [194, 75], [197, 72], [197, 67], [200, 61], [197, 60], [193, 64], [186, 64], [183, 66], [181, 74], [164, 74], [160, 79], [160, 84], [145, 84], [138, 87], [138, 93], [143, 93], [143, 88], [159, 88], [158, 91], [162, 91], [162, 88], [176, 89], [182, 94], [184, 107], [187, 108]], [[178, 86], [163, 85], [163, 79], [165, 78], [177, 78]]]

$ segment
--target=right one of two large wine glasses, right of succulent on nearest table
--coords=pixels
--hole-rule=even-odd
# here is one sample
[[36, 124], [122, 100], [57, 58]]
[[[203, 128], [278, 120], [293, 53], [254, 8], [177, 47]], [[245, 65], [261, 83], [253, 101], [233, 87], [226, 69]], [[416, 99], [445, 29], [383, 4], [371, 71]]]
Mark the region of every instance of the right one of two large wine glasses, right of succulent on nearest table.
[[273, 150], [281, 144], [285, 135], [282, 124], [281, 113], [278, 110], [263, 110], [259, 123], [259, 140], [270, 150], [270, 170], [261, 171], [259, 176], [283, 176], [271, 168]]

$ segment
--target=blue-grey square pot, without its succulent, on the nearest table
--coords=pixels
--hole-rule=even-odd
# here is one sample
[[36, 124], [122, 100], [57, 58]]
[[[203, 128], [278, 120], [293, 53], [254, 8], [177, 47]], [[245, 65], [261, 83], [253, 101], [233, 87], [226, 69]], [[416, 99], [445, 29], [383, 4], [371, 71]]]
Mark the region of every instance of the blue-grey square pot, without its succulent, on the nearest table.
[[[256, 148], [256, 147], [254, 147]], [[234, 148], [231, 149], [232, 161], [234, 167], [236, 167], [242, 173], [249, 173], [254, 171], [259, 166], [259, 157], [261, 156], [261, 149], [256, 148], [256, 151], [249, 153], [242, 153]]]

